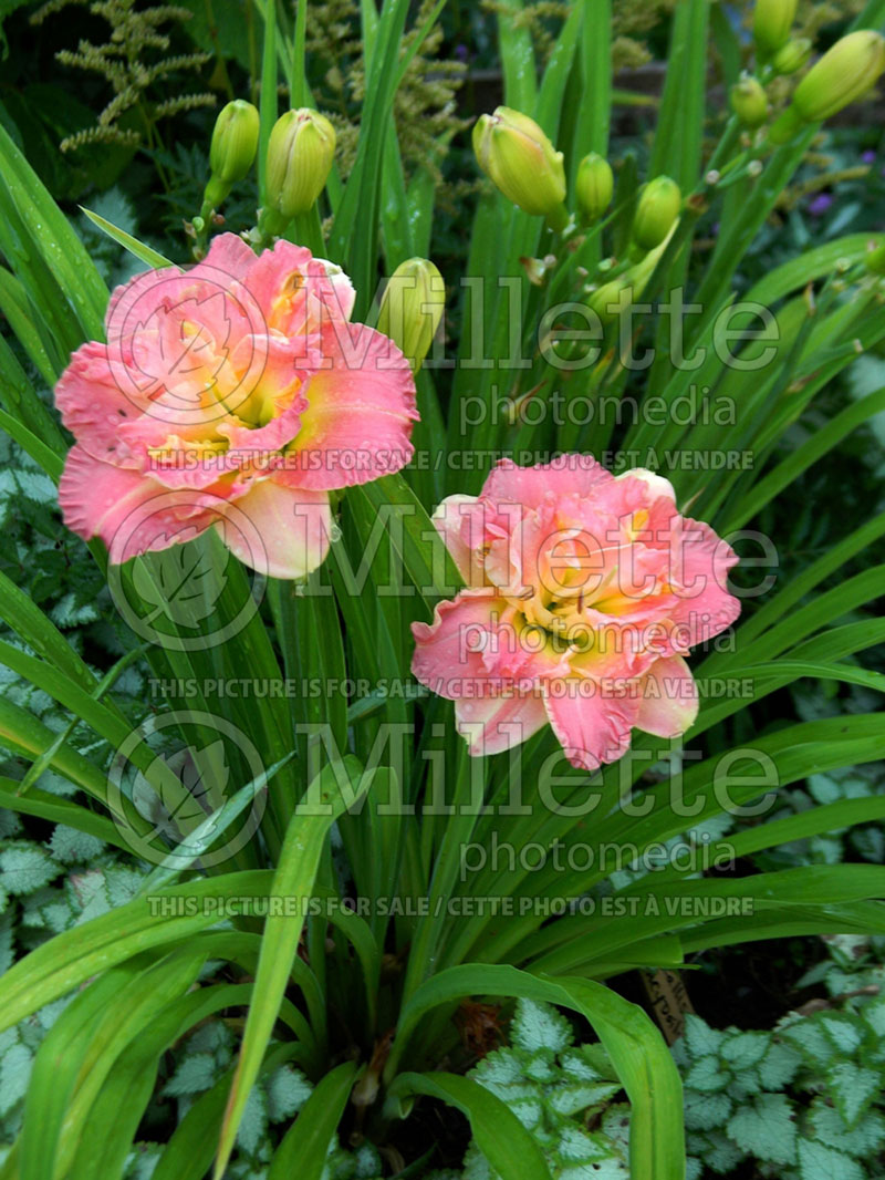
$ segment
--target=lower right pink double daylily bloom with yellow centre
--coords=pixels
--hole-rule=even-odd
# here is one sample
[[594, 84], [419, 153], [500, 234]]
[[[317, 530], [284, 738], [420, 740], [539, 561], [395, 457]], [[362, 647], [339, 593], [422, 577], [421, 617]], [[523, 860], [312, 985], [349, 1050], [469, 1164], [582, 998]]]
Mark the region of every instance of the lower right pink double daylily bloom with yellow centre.
[[680, 516], [668, 480], [615, 477], [581, 454], [504, 459], [434, 524], [466, 589], [412, 625], [412, 671], [455, 702], [471, 754], [550, 723], [571, 763], [592, 771], [627, 752], [634, 727], [675, 738], [691, 726], [683, 656], [738, 617], [726, 586], [738, 557]]

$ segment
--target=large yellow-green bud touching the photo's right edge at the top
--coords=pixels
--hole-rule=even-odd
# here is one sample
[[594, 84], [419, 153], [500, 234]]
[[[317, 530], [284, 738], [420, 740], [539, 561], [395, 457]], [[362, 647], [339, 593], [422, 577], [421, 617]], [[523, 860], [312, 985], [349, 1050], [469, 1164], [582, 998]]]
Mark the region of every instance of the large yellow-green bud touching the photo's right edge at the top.
[[848, 33], [802, 78], [793, 106], [805, 123], [828, 119], [876, 85], [885, 70], [885, 38], [870, 28]]

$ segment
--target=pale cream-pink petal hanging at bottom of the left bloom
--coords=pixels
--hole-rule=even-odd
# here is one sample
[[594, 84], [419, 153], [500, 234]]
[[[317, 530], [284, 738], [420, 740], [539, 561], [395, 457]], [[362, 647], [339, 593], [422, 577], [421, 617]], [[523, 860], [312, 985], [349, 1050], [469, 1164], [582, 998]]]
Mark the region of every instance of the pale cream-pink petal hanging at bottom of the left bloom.
[[[302, 578], [321, 565], [329, 551], [332, 507], [326, 492], [261, 479], [231, 502], [224, 516], [218, 525], [224, 544], [260, 573]], [[251, 527], [244, 526], [242, 517]]]

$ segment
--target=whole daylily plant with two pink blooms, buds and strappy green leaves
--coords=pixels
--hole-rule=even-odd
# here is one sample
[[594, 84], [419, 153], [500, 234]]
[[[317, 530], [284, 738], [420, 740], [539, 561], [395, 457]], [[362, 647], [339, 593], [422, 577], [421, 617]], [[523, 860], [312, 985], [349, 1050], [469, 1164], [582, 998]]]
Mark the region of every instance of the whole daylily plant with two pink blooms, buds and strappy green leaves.
[[[407, 183], [392, 119], [444, 4], [405, 41], [405, 0], [362, 6], [346, 181], [306, 5], [257, 5], [258, 106], [218, 116], [179, 255], [92, 215], [146, 268], [111, 291], [0, 127], [0, 425], [58, 485], [131, 632], [97, 675], [0, 578], [18, 636], [0, 661], [68, 717], [0, 702], [18, 774], [0, 802], [139, 874], [0, 981], [5, 1029], [57, 1005], [5, 1178], [129, 1174], [170, 1050], [218, 1017], [230, 1064], [152, 1129], [155, 1176], [319, 1180], [339, 1135], [366, 1167], [427, 1175], [447, 1161], [426, 1112], [445, 1106], [476, 1174], [571, 1175], [467, 1074], [518, 999], [524, 1023], [556, 1005], [599, 1043], [586, 1077], [629, 1117], [630, 1175], [676, 1180], [676, 1064], [607, 981], [885, 933], [884, 868], [740, 860], [885, 815], [872, 795], [771, 818], [791, 784], [880, 759], [881, 714], [758, 732], [801, 678], [884, 687], [863, 654], [885, 638], [885, 566], [853, 562], [885, 516], [789, 577], [758, 523], [885, 409], [879, 391], [791, 433], [885, 337], [885, 245], [812, 244], [741, 280], [821, 123], [885, 70], [885, 2], [812, 53], [795, 2], [759, 0], [739, 76], [722, 6], [678, 0], [637, 164], [610, 158], [609, 0], [570, 6], [543, 68], [503, 0], [463, 274], [430, 261], [433, 178]], [[730, 90], [710, 143], [714, 35]], [[255, 217], [222, 225], [253, 169]], [[114, 695], [133, 661], [138, 715]], [[263, 1171], [244, 1171], [249, 1103], [287, 1064], [309, 1096], [277, 1104]]]

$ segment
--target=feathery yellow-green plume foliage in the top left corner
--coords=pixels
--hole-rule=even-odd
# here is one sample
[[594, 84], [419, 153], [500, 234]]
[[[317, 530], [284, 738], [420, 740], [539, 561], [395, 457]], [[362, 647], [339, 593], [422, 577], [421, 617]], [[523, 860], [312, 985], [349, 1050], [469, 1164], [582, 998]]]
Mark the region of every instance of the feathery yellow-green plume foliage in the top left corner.
[[[183, 71], [199, 70], [209, 53], [170, 53], [171, 38], [164, 26], [190, 20], [186, 8], [153, 5], [137, 8], [136, 0], [50, 0], [32, 15], [34, 25], [71, 5], [88, 7], [103, 17], [110, 32], [101, 45], [80, 40], [76, 50], [60, 50], [58, 60], [66, 66], [97, 73], [109, 84], [113, 97], [99, 112], [94, 126], [85, 127], [61, 142], [61, 151], [74, 151], [85, 144], [122, 144], [138, 148], [158, 145], [157, 120], [215, 106], [215, 94], [190, 92], [169, 94], [173, 77]], [[155, 87], [162, 97], [155, 97]]]

